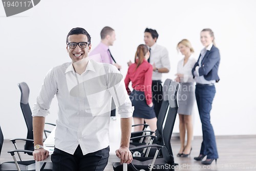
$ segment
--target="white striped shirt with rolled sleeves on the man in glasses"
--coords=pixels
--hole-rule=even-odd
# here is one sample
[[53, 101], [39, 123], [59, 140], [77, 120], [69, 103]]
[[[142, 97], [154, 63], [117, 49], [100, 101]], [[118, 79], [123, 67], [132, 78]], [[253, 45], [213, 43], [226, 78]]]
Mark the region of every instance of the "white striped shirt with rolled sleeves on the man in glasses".
[[114, 65], [89, 60], [79, 75], [71, 63], [51, 69], [33, 108], [33, 117], [46, 117], [54, 95], [58, 100], [55, 147], [74, 154], [78, 144], [83, 155], [109, 146], [111, 97], [121, 118], [134, 108], [122, 75]]

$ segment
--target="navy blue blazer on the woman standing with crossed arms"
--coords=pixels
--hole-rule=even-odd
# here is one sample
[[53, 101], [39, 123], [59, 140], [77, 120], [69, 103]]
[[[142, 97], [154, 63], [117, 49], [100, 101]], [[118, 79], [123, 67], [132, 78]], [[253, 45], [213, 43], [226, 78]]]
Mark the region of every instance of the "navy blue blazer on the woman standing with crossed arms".
[[[199, 66], [198, 62], [201, 54], [199, 55], [198, 61], [192, 69], [193, 78], [195, 78], [194, 71], [196, 66]], [[220, 65], [220, 51], [217, 47], [212, 45], [210, 50], [206, 51], [206, 54], [201, 62], [201, 67], [199, 68], [199, 76], [204, 75], [205, 80], [216, 80], [219, 82], [220, 78], [218, 76], [218, 69]]]

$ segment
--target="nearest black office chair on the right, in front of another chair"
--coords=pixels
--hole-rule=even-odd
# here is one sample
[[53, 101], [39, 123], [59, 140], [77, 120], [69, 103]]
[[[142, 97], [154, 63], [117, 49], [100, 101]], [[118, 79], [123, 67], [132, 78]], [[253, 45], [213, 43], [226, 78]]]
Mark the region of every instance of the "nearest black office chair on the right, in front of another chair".
[[[165, 119], [164, 128], [162, 132], [162, 141], [163, 145], [152, 144], [152, 145], [142, 145], [130, 150], [138, 150], [145, 147], [156, 147], [156, 153], [154, 157], [136, 157], [133, 159], [132, 163], [128, 165], [128, 170], [139, 171], [139, 170], [174, 170], [174, 156], [172, 145], [170, 143], [170, 138], [172, 137], [173, 128], [178, 111], [177, 103], [177, 92], [179, 89], [179, 83], [173, 81], [170, 83], [170, 90], [168, 91], [168, 101], [169, 109]], [[158, 153], [161, 150], [162, 157], [158, 157]], [[149, 168], [150, 167], [150, 168]], [[123, 166], [120, 163], [113, 163], [113, 168], [115, 171], [123, 169]]]

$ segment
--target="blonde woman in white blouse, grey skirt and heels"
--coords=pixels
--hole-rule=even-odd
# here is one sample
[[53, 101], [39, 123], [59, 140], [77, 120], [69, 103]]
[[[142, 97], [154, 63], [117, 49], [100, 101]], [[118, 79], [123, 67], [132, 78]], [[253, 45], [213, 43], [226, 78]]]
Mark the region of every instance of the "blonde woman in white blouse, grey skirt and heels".
[[[180, 142], [181, 147], [178, 153], [178, 157], [188, 157], [191, 153], [191, 140], [193, 137], [193, 125], [192, 125], [192, 110], [195, 102], [195, 85], [193, 69], [197, 60], [193, 58], [192, 48], [190, 42], [186, 39], [180, 41], [177, 45], [177, 49], [184, 55], [184, 58], [178, 62], [177, 78], [175, 81], [180, 83], [178, 102], [179, 102], [179, 119], [180, 119]], [[185, 134], [187, 131], [187, 143], [185, 145]]]

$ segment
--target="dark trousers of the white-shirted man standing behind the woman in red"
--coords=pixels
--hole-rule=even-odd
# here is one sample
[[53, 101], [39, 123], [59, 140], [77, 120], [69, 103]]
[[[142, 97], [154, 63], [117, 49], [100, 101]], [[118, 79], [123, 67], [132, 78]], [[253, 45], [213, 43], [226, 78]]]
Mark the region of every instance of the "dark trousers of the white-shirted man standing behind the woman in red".
[[158, 117], [162, 102], [163, 102], [163, 86], [160, 80], [152, 81], [152, 101], [154, 103], [154, 110], [156, 117]]

